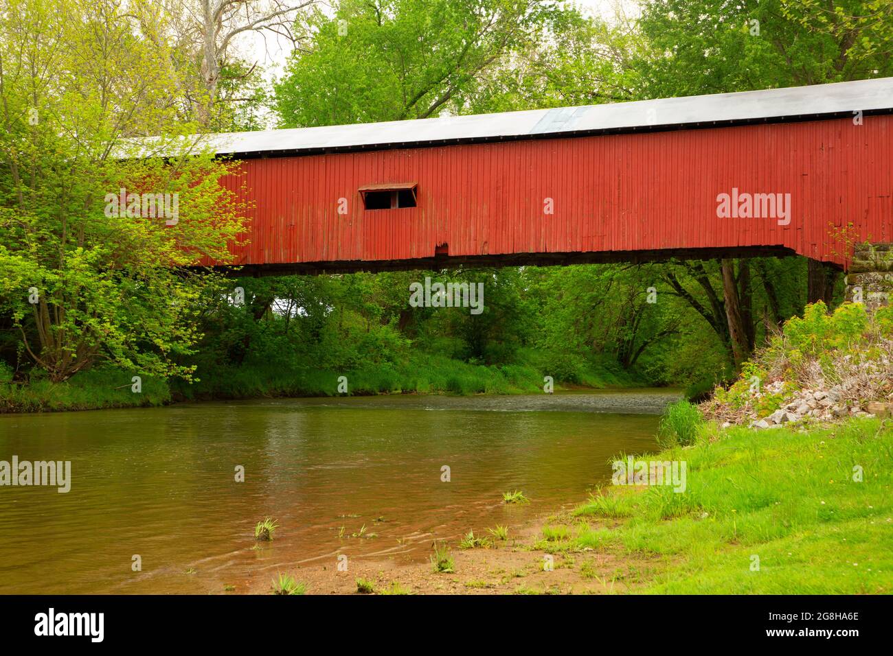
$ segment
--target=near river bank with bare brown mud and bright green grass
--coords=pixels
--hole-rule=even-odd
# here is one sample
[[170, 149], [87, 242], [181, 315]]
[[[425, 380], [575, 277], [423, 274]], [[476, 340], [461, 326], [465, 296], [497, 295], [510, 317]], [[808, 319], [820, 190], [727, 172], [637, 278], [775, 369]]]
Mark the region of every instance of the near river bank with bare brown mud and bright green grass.
[[[846, 419], [810, 430], [702, 432], [655, 455], [686, 461], [687, 489], [606, 486], [588, 502], [485, 548], [447, 545], [453, 567], [352, 559], [288, 573], [307, 594], [890, 594], [893, 428]], [[476, 535], [490, 537], [485, 527]], [[551, 570], [548, 567], [551, 566]], [[271, 591], [259, 572], [233, 593]]]

